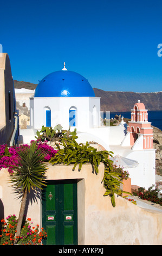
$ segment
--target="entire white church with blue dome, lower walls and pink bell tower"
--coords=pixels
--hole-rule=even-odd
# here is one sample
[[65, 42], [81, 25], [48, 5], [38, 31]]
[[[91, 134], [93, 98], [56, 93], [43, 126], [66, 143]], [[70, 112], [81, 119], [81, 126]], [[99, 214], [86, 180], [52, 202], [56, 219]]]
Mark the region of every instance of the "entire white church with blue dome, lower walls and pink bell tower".
[[30, 143], [42, 125], [61, 124], [65, 130], [70, 127], [70, 131], [76, 128], [78, 143], [93, 141], [100, 150], [131, 160], [133, 165], [126, 169], [132, 185], [147, 189], [155, 184], [155, 149], [147, 115], [144, 104], [137, 102], [128, 126], [124, 121], [118, 126], [101, 125], [100, 97], [95, 97], [85, 77], [68, 71], [64, 65], [38, 83], [34, 97], [30, 97], [30, 127], [20, 130], [20, 135], [23, 143]]

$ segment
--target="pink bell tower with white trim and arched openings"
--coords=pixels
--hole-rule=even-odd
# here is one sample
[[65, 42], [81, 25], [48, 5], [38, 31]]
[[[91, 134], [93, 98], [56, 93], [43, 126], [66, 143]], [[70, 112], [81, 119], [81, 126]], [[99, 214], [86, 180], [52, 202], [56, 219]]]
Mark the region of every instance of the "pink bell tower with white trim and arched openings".
[[151, 123], [148, 122], [148, 113], [145, 109], [144, 103], [138, 100], [138, 103], [134, 104], [133, 109], [131, 109], [131, 121], [127, 127], [127, 131], [130, 133], [130, 143], [133, 146], [135, 141], [143, 136], [143, 149], [153, 148], [153, 128]]

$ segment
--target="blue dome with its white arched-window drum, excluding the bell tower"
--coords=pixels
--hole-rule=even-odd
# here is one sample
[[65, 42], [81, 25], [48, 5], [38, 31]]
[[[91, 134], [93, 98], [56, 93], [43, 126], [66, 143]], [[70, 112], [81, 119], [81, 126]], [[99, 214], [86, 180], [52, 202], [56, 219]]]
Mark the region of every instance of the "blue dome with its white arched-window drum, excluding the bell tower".
[[30, 98], [31, 127], [56, 124], [77, 130], [100, 126], [100, 98], [85, 77], [65, 67], [44, 77]]

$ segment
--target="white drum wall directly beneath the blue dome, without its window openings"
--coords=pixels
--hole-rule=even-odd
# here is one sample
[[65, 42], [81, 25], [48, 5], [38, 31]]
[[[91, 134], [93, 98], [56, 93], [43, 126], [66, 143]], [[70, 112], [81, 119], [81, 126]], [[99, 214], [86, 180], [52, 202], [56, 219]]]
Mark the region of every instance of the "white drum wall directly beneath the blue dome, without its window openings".
[[[90, 97], [34, 97], [30, 98], [30, 113], [33, 108], [33, 121], [30, 125], [41, 129], [46, 125], [46, 110], [51, 111], [51, 126], [61, 124], [63, 129], [69, 128], [69, 109], [75, 109], [75, 127], [82, 129], [92, 127], [93, 107], [96, 106], [96, 126], [100, 123], [100, 99]], [[33, 124], [33, 125], [32, 125]]]

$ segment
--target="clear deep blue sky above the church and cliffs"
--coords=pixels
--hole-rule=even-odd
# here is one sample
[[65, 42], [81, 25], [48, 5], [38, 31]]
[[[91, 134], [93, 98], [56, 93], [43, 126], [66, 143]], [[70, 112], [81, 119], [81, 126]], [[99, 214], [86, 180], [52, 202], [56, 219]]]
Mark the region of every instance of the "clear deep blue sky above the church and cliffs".
[[159, 92], [161, 16], [161, 0], [7, 0], [0, 44], [14, 80], [38, 83], [65, 62], [93, 88]]

